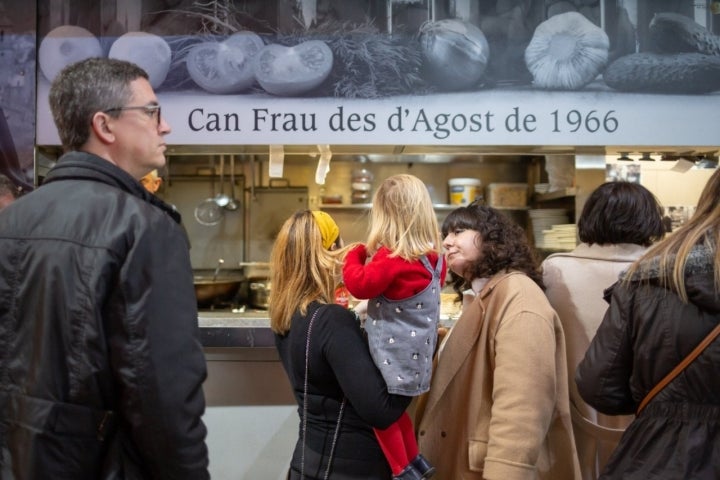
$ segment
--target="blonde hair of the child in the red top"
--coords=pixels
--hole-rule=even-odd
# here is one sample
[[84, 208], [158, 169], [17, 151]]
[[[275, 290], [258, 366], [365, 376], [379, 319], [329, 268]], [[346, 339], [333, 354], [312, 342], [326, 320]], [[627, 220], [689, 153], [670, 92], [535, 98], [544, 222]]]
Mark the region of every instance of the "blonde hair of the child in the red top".
[[381, 246], [405, 260], [441, 254], [440, 229], [425, 184], [409, 174], [386, 178], [373, 196], [367, 239], [369, 252]]

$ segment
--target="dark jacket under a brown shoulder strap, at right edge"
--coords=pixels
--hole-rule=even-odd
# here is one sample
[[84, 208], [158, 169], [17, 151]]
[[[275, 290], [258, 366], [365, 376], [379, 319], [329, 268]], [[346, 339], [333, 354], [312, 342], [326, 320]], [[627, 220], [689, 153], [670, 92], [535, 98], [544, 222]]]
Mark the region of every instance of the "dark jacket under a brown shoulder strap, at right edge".
[[[720, 322], [713, 255], [697, 246], [689, 256], [688, 303], [663, 287], [652, 265], [630, 284], [608, 289], [610, 307], [576, 371], [585, 401], [605, 414], [635, 412]], [[720, 478], [718, 365], [720, 341], [715, 340], [630, 424], [601, 478]]]

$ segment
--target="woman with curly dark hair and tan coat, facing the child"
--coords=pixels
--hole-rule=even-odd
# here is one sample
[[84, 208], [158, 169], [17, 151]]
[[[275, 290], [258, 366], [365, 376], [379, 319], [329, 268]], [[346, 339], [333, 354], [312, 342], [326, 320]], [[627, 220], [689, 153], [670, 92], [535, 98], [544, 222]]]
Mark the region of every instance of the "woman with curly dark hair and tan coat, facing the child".
[[442, 226], [460, 318], [417, 405], [418, 444], [440, 478], [580, 478], [565, 337], [525, 231], [470, 204]]

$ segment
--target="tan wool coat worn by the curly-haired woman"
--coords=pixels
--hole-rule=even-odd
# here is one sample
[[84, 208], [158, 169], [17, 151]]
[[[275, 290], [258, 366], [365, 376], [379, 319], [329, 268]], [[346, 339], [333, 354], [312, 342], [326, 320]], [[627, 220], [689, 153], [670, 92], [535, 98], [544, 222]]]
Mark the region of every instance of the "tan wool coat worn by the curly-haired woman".
[[566, 379], [562, 326], [543, 291], [519, 272], [491, 278], [463, 308], [417, 405], [435, 478], [579, 479]]

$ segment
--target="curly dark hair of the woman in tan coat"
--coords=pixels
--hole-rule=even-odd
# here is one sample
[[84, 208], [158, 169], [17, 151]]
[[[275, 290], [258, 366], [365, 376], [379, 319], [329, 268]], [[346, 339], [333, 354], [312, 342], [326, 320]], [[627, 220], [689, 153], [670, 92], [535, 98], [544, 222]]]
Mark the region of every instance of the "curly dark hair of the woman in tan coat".
[[[442, 236], [457, 230], [474, 230], [480, 234], [480, 256], [472, 267], [470, 279], [488, 278], [499, 272], [520, 271], [545, 289], [537, 252], [527, 234], [512, 218], [487, 205], [471, 203], [445, 217]], [[470, 287], [470, 281], [450, 271], [450, 282], [459, 294]]]

